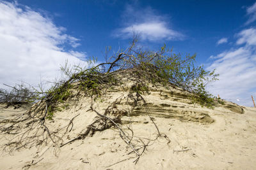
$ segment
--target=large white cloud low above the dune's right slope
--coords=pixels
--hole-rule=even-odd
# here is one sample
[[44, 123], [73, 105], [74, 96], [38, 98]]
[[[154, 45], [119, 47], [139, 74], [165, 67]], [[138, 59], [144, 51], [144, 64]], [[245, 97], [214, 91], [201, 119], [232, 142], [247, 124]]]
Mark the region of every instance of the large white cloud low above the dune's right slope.
[[[237, 48], [218, 54], [208, 70], [216, 69], [220, 80], [211, 83], [209, 91], [217, 96], [244, 106], [252, 106], [251, 95], [256, 95], [256, 34], [255, 29], [244, 29], [237, 34]], [[238, 99], [238, 100], [237, 100]]]

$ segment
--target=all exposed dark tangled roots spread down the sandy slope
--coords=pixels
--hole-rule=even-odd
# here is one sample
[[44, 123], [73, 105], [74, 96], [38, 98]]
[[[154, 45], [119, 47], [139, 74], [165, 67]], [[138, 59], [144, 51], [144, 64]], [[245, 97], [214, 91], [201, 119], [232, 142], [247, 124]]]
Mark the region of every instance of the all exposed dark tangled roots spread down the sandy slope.
[[[161, 134], [159, 131], [153, 118], [150, 117], [150, 110], [147, 107], [147, 102], [139, 92], [136, 92], [135, 96], [133, 96], [130, 92], [126, 97], [126, 104], [131, 106], [131, 109], [128, 108], [128, 111], [118, 110], [117, 105], [122, 101], [122, 96], [120, 96], [117, 97], [116, 100], [108, 106], [108, 108], [106, 108], [104, 113], [99, 113], [99, 111], [93, 108], [94, 99], [91, 97], [92, 101], [90, 111], [96, 113], [97, 117], [95, 117], [92, 124], [88, 125], [83, 131], [81, 131], [76, 138], [65, 143], [63, 143], [63, 137], [72, 131], [74, 127], [74, 119], [80, 114], [71, 118], [65, 127], [51, 131], [51, 128], [49, 127], [50, 120], [46, 121], [49, 104], [47, 101], [40, 101], [39, 103], [35, 104], [31, 110], [27, 111], [23, 115], [11, 120], [3, 120], [0, 122], [1, 133], [14, 134], [13, 138], [8, 139], [8, 143], [6, 143], [4, 146], [4, 151], [11, 153], [14, 150], [19, 150], [20, 148], [31, 148], [35, 146], [38, 148], [39, 152], [40, 148], [50, 145], [51, 143], [49, 147], [54, 146], [54, 154], [57, 156], [61, 147], [74, 141], [84, 139], [88, 136], [93, 136], [93, 134], [95, 134], [97, 131], [104, 131], [106, 129], [110, 129], [111, 127], [115, 127], [119, 132], [120, 138], [131, 149], [131, 152], [127, 153], [127, 155], [130, 155], [131, 153], [136, 155], [135, 160], [133, 161], [136, 164], [141, 155], [143, 155], [143, 153], [147, 150], [147, 147], [154, 144], [158, 138], [163, 137], [167, 139], [168, 143], [170, 143], [170, 139], [165, 134]], [[154, 139], [134, 136], [130, 115], [136, 106], [145, 108], [150, 121], [156, 127], [157, 134]], [[130, 120], [126, 131], [122, 129], [121, 121], [121, 118], [124, 115], [128, 115]], [[22, 132], [20, 132], [20, 129], [23, 129]], [[45, 151], [40, 154], [40, 157], [45, 153]]]

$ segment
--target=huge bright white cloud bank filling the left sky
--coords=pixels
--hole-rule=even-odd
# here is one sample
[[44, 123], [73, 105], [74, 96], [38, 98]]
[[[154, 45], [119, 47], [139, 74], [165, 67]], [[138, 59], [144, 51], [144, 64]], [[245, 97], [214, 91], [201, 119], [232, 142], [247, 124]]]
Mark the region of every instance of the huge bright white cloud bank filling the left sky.
[[[52, 80], [65, 60], [83, 64], [86, 53], [64, 49], [78, 46], [78, 39], [64, 33], [52, 20], [28, 6], [0, 1], [0, 83], [32, 85]], [[78, 59], [79, 58], [79, 59]], [[1, 85], [3, 87], [3, 85]]]

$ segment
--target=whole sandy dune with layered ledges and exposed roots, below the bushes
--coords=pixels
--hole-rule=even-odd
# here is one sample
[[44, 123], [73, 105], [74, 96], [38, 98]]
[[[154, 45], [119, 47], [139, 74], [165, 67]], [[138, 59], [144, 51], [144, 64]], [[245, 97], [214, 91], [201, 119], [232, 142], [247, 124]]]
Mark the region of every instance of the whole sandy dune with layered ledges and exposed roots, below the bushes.
[[122, 74], [93, 98], [74, 83], [48, 119], [45, 103], [2, 104], [0, 169], [256, 169], [255, 108], [144, 84]]

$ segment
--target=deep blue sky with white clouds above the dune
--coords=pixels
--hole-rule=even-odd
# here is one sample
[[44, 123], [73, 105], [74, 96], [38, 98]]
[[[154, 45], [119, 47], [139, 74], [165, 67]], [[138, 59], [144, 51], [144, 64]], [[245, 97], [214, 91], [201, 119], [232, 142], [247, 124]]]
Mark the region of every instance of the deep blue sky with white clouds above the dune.
[[33, 86], [60, 76], [60, 66], [104, 61], [132, 32], [150, 50], [166, 46], [216, 69], [207, 90], [243, 106], [256, 99], [256, 1], [0, 0], [0, 87]]

